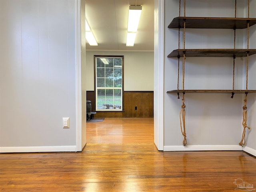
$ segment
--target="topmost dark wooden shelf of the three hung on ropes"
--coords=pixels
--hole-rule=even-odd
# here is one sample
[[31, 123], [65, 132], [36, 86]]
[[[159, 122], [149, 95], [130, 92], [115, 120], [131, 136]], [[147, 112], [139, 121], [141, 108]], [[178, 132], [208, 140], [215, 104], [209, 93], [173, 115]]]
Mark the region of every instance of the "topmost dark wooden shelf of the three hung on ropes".
[[215, 18], [215, 17], [176, 17], [168, 28], [205, 28], [205, 29], [244, 29], [256, 24], [256, 18]]

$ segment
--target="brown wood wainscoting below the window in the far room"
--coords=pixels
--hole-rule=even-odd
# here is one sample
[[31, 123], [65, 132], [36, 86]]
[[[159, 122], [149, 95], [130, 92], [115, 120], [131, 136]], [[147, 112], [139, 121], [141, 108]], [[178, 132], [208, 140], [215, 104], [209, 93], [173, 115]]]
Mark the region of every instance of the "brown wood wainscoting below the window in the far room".
[[[92, 111], [95, 111], [95, 92], [87, 91], [86, 99], [92, 101]], [[123, 111], [97, 111], [94, 118], [152, 118], [154, 116], [153, 91], [125, 91]], [[137, 110], [135, 110], [137, 107]]]

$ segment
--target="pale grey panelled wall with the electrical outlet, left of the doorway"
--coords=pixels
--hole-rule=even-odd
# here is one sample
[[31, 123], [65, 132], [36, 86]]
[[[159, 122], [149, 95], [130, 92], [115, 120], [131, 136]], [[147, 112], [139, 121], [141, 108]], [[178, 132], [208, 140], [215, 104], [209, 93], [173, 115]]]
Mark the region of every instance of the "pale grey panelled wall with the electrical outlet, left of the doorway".
[[0, 14], [2, 152], [75, 149], [75, 1], [1, 0]]

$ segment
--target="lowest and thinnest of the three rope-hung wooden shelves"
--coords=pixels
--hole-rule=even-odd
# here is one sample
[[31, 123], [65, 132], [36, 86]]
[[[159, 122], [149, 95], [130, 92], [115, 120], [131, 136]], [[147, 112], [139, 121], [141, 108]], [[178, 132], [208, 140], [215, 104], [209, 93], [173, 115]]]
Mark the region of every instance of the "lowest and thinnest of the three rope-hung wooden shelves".
[[171, 90], [167, 93], [256, 93], [256, 90], [198, 90], [198, 89], [189, 89], [189, 90]]

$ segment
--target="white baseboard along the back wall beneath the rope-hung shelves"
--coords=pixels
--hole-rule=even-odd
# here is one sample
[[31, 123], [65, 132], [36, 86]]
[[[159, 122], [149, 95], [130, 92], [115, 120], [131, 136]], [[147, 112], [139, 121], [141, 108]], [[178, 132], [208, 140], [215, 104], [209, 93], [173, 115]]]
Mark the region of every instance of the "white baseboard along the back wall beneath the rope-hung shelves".
[[164, 146], [164, 151], [236, 151], [243, 150], [240, 145], [188, 145], [188, 146]]

